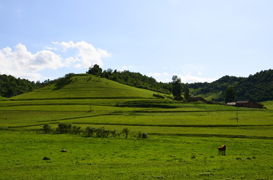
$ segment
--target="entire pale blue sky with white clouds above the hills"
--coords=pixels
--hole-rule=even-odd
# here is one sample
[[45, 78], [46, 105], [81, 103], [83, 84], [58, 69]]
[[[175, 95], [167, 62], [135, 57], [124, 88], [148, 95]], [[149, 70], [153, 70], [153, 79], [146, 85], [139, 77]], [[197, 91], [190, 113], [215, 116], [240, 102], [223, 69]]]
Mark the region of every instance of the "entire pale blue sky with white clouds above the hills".
[[0, 74], [102, 69], [211, 82], [273, 67], [272, 0], [0, 0]]

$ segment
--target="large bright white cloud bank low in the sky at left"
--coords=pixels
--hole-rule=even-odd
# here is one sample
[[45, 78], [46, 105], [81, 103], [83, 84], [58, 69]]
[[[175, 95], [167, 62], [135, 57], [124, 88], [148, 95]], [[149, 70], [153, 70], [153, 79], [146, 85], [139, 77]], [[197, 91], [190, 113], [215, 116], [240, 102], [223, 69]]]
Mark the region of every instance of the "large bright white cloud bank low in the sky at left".
[[[11, 74], [16, 77], [28, 78], [30, 80], [40, 80], [43, 78], [38, 73], [46, 68], [58, 69], [61, 67], [74, 66], [76, 68], [88, 68], [92, 64], [103, 65], [102, 58], [111, 56], [103, 49], [95, 48], [91, 44], [81, 41], [52, 42], [53, 47], [47, 46], [46, 49], [32, 53], [21, 43], [14, 49], [6, 47], [0, 49], [0, 74]], [[69, 51], [69, 48], [77, 50], [77, 54], [69, 57], [62, 57], [59, 53], [52, 50]]]

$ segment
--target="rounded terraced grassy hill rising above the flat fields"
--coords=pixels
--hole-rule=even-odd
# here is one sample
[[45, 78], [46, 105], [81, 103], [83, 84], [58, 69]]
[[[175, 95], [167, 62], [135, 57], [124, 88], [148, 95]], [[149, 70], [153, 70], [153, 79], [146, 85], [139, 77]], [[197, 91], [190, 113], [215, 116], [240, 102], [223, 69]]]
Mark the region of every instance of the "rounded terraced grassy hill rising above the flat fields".
[[51, 84], [11, 99], [150, 98], [154, 91], [135, 88], [89, 74], [76, 74], [68, 84]]

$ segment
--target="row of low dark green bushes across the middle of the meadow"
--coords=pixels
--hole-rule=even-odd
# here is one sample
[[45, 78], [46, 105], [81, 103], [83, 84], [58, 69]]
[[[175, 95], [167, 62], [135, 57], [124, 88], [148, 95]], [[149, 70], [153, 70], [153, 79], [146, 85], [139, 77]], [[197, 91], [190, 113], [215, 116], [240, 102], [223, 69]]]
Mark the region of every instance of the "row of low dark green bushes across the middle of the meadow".
[[[72, 133], [72, 134], [77, 134], [77, 133], [82, 133], [88, 137], [116, 137], [120, 136], [121, 133], [125, 134], [125, 138], [127, 138], [128, 133], [130, 130], [125, 127], [122, 129], [121, 132], [117, 132], [116, 129], [114, 130], [107, 130], [105, 127], [92, 127], [92, 126], [87, 126], [85, 129], [82, 129], [81, 126], [73, 125], [70, 122], [60, 122], [58, 124], [58, 127], [54, 129], [50, 124], [44, 124], [43, 129], [44, 133]], [[139, 131], [137, 134], [133, 135], [134, 137], [137, 138], [148, 138], [148, 134], [146, 132]]]

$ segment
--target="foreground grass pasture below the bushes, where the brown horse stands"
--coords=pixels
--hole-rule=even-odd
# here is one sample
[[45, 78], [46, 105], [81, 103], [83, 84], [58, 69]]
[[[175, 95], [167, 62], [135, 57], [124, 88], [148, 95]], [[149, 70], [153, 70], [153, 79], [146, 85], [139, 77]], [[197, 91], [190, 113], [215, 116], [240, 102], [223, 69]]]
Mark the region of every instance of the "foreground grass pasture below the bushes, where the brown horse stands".
[[[1, 179], [271, 179], [272, 139], [1, 131]], [[218, 154], [227, 144], [226, 155]], [[66, 149], [67, 152], [61, 152]], [[44, 157], [50, 160], [43, 160]]]

